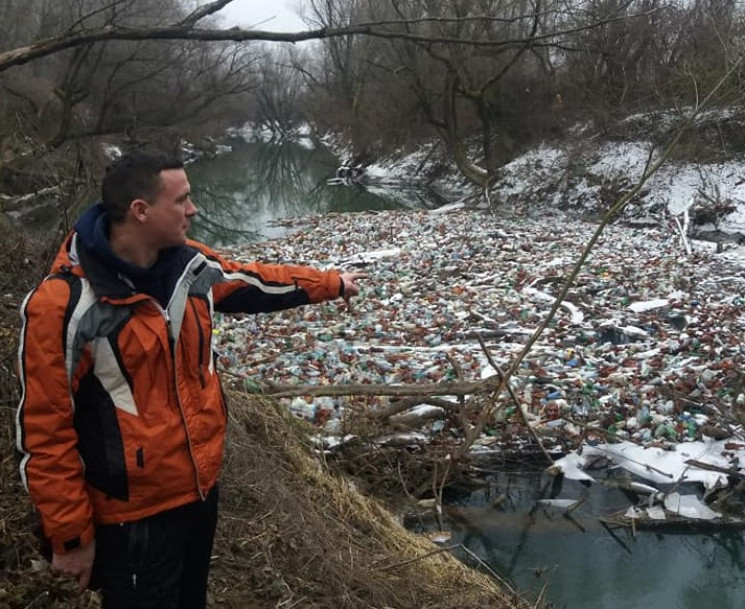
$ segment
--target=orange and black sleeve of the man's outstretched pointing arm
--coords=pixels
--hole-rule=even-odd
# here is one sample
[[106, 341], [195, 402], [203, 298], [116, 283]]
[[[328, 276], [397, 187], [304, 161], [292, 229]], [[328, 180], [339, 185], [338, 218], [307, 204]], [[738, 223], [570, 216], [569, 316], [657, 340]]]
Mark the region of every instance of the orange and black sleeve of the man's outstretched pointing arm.
[[223, 281], [213, 287], [215, 309], [223, 313], [279, 311], [332, 300], [343, 294], [338, 271], [309, 266], [243, 263], [222, 258], [202, 244], [212, 265], [219, 265]]

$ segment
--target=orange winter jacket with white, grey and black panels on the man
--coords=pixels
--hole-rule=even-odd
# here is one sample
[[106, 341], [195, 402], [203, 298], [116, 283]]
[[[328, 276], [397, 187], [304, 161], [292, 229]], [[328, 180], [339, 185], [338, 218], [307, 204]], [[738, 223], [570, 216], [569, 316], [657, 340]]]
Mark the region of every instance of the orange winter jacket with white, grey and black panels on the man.
[[21, 476], [55, 552], [98, 523], [204, 498], [217, 482], [226, 411], [213, 312], [336, 298], [335, 271], [227, 261], [188, 242], [166, 307], [137, 293], [72, 233], [25, 299], [17, 413]]

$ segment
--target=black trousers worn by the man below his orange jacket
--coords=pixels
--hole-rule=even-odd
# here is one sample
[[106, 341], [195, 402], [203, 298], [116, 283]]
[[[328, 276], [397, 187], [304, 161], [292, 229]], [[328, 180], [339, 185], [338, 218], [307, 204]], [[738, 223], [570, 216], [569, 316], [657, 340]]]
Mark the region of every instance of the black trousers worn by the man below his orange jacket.
[[105, 609], [204, 609], [217, 487], [204, 501], [96, 530], [91, 587]]

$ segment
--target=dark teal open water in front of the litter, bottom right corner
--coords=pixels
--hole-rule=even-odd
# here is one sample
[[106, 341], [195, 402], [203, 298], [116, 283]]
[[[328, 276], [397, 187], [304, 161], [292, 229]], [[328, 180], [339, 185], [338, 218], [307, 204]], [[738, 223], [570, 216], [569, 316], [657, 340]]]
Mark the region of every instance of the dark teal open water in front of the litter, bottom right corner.
[[[745, 606], [741, 532], [659, 534], [611, 529], [598, 516], [629, 505], [617, 489], [565, 483], [562, 497], [584, 499], [570, 517], [541, 506], [555, 492], [541, 476], [497, 476], [485, 491], [445, 510], [462, 544], [520, 590], [571, 609], [701, 609]], [[463, 552], [468, 560], [468, 553]]]

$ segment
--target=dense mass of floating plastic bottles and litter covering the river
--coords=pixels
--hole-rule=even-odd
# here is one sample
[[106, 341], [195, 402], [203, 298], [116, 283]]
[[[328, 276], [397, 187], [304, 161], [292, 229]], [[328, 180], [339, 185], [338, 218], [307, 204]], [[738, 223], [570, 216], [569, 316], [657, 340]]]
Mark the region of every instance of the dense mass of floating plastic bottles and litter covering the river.
[[[370, 278], [351, 310], [330, 304], [222, 320], [221, 365], [256, 390], [267, 381], [395, 387], [494, 377], [547, 315], [596, 229], [563, 212], [457, 208], [285, 224], [292, 236], [228, 253], [364, 269]], [[360, 402], [326, 395], [285, 405], [317, 424], [330, 453], [359, 442], [360, 421], [372, 420], [370, 445], [434, 446], [453, 455], [465, 446], [472, 460], [530, 450], [536, 438], [553, 458], [608, 441], [672, 451], [716, 439], [731, 444], [736, 469], [736, 458], [745, 457], [743, 249], [688, 245], [690, 254], [674, 230], [606, 229], [513, 378], [522, 416], [507, 392], [465, 411], [447, 396]], [[483, 433], [471, 441], [479, 422]], [[654, 450], [646, 452], [652, 461]]]

